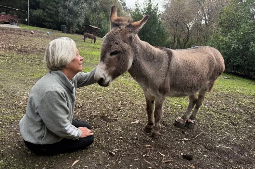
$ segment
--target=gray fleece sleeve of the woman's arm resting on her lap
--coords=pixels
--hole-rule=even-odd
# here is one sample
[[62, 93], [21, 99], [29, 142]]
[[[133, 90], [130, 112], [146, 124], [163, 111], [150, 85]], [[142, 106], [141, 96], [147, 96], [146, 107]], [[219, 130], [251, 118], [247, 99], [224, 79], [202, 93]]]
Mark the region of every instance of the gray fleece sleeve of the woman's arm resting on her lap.
[[38, 105], [38, 113], [45, 126], [59, 137], [78, 139], [82, 132], [67, 119], [70, 113], [62, 91], [48, 91]]

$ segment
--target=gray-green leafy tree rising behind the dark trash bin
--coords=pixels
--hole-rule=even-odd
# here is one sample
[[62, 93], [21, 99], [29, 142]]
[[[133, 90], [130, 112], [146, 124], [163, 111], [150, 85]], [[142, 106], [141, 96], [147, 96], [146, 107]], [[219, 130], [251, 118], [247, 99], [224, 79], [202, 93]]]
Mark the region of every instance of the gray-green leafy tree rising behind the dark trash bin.
[[82, 26], [87, 11], [85, 0], [60, 1], [59, 16], [68, 26], [68, 33], [78, 30]]

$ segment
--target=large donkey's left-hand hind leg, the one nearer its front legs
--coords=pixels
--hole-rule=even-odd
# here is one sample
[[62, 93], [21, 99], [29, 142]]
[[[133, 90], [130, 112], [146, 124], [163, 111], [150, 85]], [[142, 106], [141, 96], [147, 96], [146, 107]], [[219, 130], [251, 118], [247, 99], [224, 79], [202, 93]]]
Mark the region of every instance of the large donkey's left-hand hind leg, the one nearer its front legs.
[[175, 122], [173, 123], [173, 125], [178, 126], [178, 127], [183, 127], [185, 124], [185, 121], [188, 118], [188, 115], [190, 114], [191, 110], [193, 109], [194, 105], [197, 102], [197, 93], [190, 95], [189, 96], [189, 103], [188, 103], [188, 108], [185, 111], [185, 113], [183, 114], [183, 116], [180, 118], [178, 117]]

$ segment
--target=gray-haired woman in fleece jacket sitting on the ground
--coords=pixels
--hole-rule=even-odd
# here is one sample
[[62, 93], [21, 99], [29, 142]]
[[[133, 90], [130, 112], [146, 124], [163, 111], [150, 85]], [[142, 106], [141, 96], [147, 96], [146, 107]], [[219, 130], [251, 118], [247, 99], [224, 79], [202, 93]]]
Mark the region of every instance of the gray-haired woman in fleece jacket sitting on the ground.
[[19, 122], [25, 145], [42, 155], [83, 149], [94, 141], [91, 125], [73, 119], [76, 89], [95, 83], [94, 68], [81, 73], [83, 58], [68, 37], [51, 41], [44, 64], [50, 71], [32, 87]]

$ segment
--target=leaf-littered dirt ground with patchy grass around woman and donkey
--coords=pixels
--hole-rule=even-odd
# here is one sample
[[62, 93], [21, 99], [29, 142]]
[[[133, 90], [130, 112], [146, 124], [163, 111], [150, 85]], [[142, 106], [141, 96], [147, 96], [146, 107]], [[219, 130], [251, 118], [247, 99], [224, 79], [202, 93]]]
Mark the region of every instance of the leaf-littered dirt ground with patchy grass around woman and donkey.
[[56, 156], [33, 154], [19, 133], [19, 120], [38, 74], [47, 72], [42, 53], [56, 36], [30, 31], [0, 27], [0, 168], [255, 169], [255, 95], [214, 88], [193, 129], [173, 126], [188, 98], [167, 98], [161, 136], [154, 139], [143, 130], [143, 92], [128, 74], [108, 88], [93, 84], [78, 89], [74, 118], [92, 125], [95, 142], [89, 148]]

